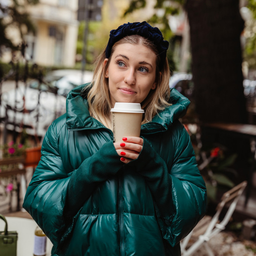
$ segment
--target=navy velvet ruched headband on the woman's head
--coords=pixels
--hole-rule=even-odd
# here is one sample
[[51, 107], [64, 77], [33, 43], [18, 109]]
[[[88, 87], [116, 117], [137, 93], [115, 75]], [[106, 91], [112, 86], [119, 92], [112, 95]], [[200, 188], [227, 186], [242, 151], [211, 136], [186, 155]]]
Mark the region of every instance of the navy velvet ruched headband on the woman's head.
[[164, 65], [166, 51], [169, 46], [169, 42], [164, 40], [164, 37], [161, 31], [158, 28], [153, 28], [146, 21], [143, 22], [134, 22], [123, 24], [117, 29], [110, 31], [109, 42], [106, 48], [106, 58], [110, 57], [111, 49], [115, 42], [119, 41], [123, 37], [130, 35], [139, 35], [147, 38], [149, 41], [152, 41], [156, 45], [157, 50], [160, 56], [160, 68]]

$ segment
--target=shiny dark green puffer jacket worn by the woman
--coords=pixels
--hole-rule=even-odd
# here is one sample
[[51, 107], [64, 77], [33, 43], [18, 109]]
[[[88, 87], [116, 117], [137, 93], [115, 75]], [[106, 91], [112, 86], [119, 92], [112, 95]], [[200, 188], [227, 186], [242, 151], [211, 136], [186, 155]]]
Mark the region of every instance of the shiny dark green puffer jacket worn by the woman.
[[53, 256], [178, 256], [206, 211], [206, 187], [173, 103], [141, 126], [138, 159], [120, 161], [113, 133], [89, 115], [83, 86], [49, 127], [23, 207], [53, 243]]

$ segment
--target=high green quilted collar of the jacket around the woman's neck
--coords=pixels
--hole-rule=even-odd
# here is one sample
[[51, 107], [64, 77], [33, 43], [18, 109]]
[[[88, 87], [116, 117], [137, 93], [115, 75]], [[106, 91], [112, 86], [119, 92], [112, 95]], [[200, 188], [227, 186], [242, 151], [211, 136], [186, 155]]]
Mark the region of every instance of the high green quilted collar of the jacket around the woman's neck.
[[[99, 121], [92, 118], [87, 104], [87, 98], [81, 96], [81, 91], [87, 84], [76, 87], [71, 90], [66, 99], [66, 124], [68, 129], [93, 129], [104, 128]], [[172, 123], [186, 114], [190, 101], [180, 94], [176, 89], [170, 89], [170, 99], [172, 103], [158, 115], [152, 122], [141, 126], [141, 133], [155, 133], [165, 131]]]

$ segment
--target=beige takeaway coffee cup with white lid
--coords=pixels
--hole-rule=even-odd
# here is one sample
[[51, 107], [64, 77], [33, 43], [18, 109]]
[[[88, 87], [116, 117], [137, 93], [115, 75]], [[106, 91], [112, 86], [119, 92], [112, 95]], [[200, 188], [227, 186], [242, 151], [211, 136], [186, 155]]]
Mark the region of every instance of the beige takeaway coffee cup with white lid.
[[123, 142], [123, 137], [139, 137], [144, 110], [139, 103], [116, 102], [112, 112], [112, 131], [115, 142]]

